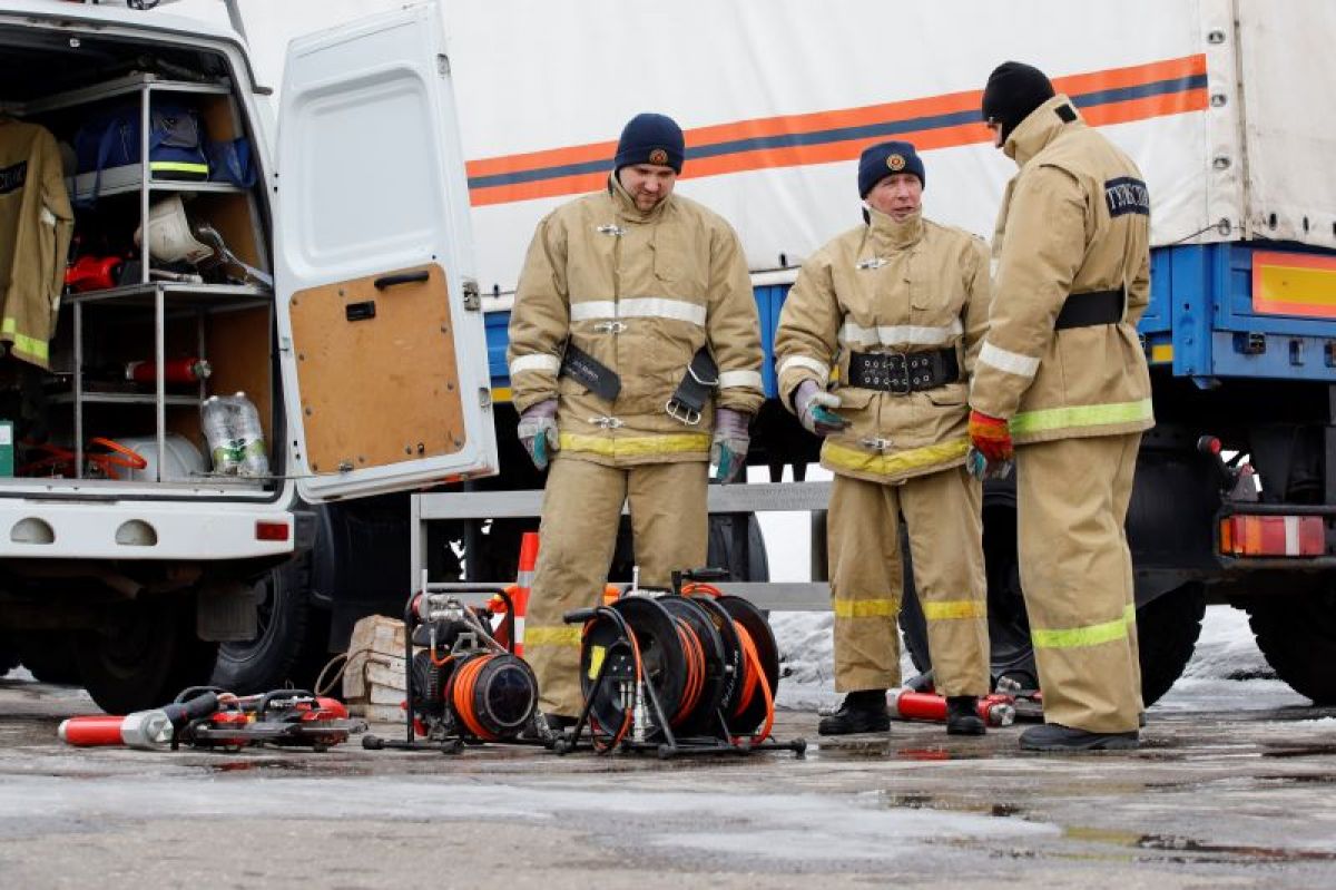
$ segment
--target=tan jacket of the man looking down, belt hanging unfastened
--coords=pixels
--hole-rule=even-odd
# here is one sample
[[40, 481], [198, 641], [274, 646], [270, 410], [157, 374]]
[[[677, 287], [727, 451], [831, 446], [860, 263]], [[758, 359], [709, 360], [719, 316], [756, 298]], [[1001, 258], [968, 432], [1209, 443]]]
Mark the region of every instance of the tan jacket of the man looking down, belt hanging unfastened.
[[[616, 372], [612, 402], [560, 376], [566, 339]], [[764, 401], [760, 322], [737, 235], [680, 195], [641, 212], [616, 178], [538, 223], [510, 315], [516, 409], [556, 397], [566, 457], [612, 466], [704, 461], [713, 408], [699, 424], [665, 406], [709, 346], [715, 401], [755, 414]]]

